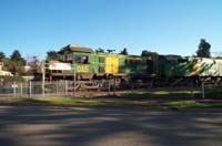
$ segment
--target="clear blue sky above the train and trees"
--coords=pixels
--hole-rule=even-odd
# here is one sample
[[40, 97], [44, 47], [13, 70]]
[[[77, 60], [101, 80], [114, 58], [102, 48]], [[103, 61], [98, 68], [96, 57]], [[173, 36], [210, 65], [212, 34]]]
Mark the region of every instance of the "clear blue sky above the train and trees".
[[193, 55], [222, 51], [222, 0], [0, 0], [0, 52], [23, 58], [68, 44]]

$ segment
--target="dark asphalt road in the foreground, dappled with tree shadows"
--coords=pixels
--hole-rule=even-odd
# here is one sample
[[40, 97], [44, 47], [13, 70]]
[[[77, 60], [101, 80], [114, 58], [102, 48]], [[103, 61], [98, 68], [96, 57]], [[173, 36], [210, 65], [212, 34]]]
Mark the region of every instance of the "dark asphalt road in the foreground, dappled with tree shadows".
[[221, 146], [222, 113], [0, 106], [1, 146]]

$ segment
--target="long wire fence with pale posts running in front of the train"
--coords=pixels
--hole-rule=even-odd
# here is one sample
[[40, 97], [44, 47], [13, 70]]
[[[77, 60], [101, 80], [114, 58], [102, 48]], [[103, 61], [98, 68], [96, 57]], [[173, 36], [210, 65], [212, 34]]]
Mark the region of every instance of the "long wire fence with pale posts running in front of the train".
[[[78, 82], [74, 84], [72, 81], [54, 81], [54, 82], [13, 82], [8, 84], [0, 84], [0, 97], [44, 97], [44, 96], [73, 96], [73, 97], [92, 97], [114, 95], [119, 91], [134, 91], [143, 88], [147, 92], [165, 90], [176, 91], [186, 90], [189, 97], [216, 97], [222, 98], [222, 85], [209, 85], [202, 83], [200, 86], [167, 86], [153, 87], [149, 83], [138, 84], [130, 83], [124, 85], [113, 84], [112, 81], [103, 82]], [[178, 94], [171, 94], [178, 96]]]

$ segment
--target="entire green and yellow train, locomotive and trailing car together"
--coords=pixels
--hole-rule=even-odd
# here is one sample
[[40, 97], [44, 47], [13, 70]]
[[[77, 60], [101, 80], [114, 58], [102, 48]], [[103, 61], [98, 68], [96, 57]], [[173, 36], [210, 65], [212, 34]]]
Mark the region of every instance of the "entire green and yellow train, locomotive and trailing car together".
[[58, 60], [46, 63], [47, 80], [71, 80], [85, 84], [109, 80], [115, 85], [141, 82], [150, 86], [200, 84], [206, 81], [222, 83], [221, 59], [128, 55], [97, 52], [77, 44], [62, 48], [58, 54]]

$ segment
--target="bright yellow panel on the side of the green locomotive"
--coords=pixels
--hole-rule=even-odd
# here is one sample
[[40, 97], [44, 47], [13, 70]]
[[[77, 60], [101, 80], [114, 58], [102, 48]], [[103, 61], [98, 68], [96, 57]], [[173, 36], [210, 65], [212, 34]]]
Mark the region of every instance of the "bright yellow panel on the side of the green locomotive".
[[119, 60], [117, 56], [107, 56], [105, 59], [105, 72], [107, 73], [118, 73], [119, 71]]

